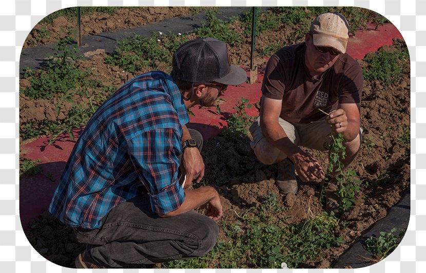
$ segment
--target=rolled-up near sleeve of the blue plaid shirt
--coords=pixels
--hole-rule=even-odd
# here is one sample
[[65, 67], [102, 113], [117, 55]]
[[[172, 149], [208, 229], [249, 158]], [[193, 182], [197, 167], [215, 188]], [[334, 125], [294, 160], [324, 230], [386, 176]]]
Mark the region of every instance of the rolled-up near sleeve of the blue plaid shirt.
[[131, 161], [148, 192], [154, 212], [175, 211], [185, 199], [178, 181], [180, 140], [176, 130], [165, 128], [135, 136], [128, 145]]

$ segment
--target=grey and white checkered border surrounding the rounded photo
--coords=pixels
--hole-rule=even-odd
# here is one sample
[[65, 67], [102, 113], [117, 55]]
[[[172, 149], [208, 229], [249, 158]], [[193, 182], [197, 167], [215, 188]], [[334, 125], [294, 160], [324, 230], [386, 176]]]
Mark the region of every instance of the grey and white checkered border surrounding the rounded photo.
[[[424, 0], [15, 0], [0, 4], [0, 270], [75, 272], [46, 261], [32, 248], [19, 217], [19, 61], [30, 30], [47, 14], [74, 6], [356, 6], [376, 11], [401, 32], [411, 56], [411, 218], [399, 247], [359, 269], [286, 269], [295, 272], [425, 272], [426, 268], [426, 1]], [[416, 180], [416, 177], [418, 180]], [[81, 270], [81, 269], [80, 269]], [[90, 270], [90, 269], [87, 269]], [[272, 269], [171, 269], [175, 272], [276, 272]], [[284, 269], [279, 269], [282, 271]], [[103, 272], [168, 272], [104, 269]], [[153, 272], [154, 273], [154, 272]]]

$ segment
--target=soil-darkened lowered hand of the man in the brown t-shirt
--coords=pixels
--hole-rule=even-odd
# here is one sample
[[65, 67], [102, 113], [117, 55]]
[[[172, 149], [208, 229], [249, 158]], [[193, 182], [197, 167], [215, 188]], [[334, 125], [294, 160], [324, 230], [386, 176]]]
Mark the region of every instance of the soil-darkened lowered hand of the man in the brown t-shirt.
[[289, 159], [294, 163], [295, 170], [302, 181], [314, 181], [325, 177], [320, 164], [308, 153], [300, 150], [289, 156]]

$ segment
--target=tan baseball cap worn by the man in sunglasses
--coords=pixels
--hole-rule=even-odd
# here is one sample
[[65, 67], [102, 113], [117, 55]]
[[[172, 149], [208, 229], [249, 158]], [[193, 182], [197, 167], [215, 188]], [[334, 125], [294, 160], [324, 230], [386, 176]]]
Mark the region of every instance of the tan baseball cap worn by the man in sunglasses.
[[323, 13], [314, 19], [311, 24], [314, 45], [333, 47], [341, 53], [346, 52], [349, 40], [349, 26], [340, 13]]

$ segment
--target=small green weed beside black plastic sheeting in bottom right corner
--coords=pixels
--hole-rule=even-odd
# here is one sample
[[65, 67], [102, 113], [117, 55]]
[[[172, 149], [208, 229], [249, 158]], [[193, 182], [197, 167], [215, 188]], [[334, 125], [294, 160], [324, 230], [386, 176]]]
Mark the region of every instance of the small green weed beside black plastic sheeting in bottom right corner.
[[371, 236], [365, 240], [365, 247], [379, 259], [384, 259], [399, 245], [405, 235], [405, 231], [406, 229], [402, 229], [397, 233], [397, 229], [392, 228], [389, 233], [380, 232], [379, 237]]

